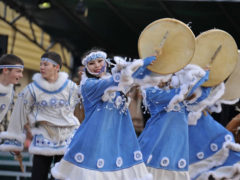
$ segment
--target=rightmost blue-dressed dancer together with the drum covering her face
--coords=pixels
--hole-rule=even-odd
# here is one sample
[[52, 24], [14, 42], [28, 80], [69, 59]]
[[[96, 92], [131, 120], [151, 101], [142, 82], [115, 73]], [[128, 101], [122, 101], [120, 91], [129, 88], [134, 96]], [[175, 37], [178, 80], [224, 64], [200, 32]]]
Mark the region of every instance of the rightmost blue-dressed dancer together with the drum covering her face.
[[210, 73], [209, 80], [195, 90], [195, 98], [184, 103], [189, 123], [189, 173], [191, 179], [198, 180], [239, 179], [240, 146], [207, 110], [218, 109], [213, 105], [219, 103], [225, 91], [223, 81], [237, 63], [237, 46], [228, 33], [217, 29], [202, 33], [196, 40], [191, 63], [209, 66]]

